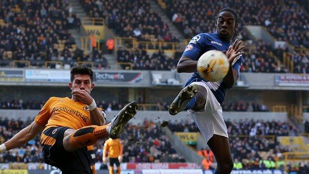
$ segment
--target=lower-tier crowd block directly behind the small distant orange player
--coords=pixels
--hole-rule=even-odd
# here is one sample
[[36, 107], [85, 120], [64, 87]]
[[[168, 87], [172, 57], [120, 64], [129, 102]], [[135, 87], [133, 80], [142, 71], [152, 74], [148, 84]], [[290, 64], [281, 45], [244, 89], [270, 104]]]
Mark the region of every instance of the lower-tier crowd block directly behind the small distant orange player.
[[[143, 124], [138, 125], [128, 123], [126, 131], [120, 137], [124, 145], [123, 162], [185, 162], [164, 134], [161, 127], [154, 121], [144, 120]], [[103, 143], [100, 141], [96, 145], [97, 149], [102, 149]], [[102, 161], [101, 151], [97, 151], [97, 161]]]

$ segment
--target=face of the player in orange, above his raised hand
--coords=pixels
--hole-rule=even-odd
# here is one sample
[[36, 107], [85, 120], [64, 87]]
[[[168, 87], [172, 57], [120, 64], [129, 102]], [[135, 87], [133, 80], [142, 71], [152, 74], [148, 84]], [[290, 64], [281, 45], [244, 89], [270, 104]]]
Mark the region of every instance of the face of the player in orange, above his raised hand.
[[69, 83], [71, 90], [80, 89], [85, 90], [90, 94], [95, 84], [91, 82], [90, 75], [75, 74], [73, 82]]

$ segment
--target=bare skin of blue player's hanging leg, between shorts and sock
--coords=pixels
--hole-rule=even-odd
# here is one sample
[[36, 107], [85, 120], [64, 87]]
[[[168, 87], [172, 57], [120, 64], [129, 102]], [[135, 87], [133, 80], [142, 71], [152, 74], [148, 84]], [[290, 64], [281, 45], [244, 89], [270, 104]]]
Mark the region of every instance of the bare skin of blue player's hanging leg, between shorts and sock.
[[230, 143], [227, 137], [221, 135], [213, 135], [207, 142], [210, 150], [212, 151], [218, 166], [232, 164], [232, 156]]

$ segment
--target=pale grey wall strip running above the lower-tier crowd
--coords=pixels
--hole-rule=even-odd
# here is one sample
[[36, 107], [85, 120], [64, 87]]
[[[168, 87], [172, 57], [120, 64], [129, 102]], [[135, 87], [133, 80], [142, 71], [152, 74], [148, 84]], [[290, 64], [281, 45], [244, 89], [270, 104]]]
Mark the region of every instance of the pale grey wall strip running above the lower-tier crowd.
[[[39, 113], [39, 110], [0, 110], [0, 116], [17, 119], [20, 117], [26, 120], [29, 116], [34, 118]], [[111, 120], [113, 116], [118, 114], [118, 111], [106, 112], [107, 120]], [[277, 120], [285, 121], [287, 119], [286, 113], [278, 112], [223, 112], [225, 120], [239, 120], [239, 119], [254, 119], [254, 120]], [[152, 119], [154, 121], [172, 121], [180, 119], [189, 119], [191, 117], [187, 112], [181, 112], [177, 116], [170, 116], [167, 111], [139, 111], [137, 115], [131, 120], [134, 124], [143, 123], [145, 119]]]

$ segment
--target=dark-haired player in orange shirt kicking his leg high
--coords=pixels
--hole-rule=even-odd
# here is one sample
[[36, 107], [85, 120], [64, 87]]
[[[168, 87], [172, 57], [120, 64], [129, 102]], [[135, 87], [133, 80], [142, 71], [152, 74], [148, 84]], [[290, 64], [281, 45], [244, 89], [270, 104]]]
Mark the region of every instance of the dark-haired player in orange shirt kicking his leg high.
[[33, 139], [39, 132], [44, 162], [62, 174], [92, 174], [87, 146], [99, 139], [119, 138], [125, 124], [135, 116], [137, 103], [126, 105], [109, 124], [105, 113], [90, 96], [95, 84], [93, 71], [85, 64], [71, 69], [72, 97], [51, 97], [35, 120], [10, 140], [0, 145], [4, 152]]

